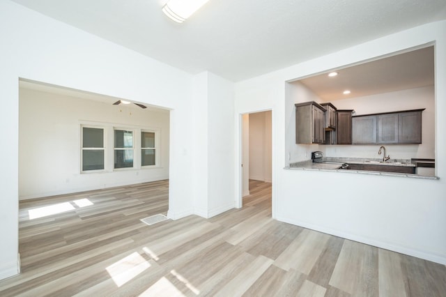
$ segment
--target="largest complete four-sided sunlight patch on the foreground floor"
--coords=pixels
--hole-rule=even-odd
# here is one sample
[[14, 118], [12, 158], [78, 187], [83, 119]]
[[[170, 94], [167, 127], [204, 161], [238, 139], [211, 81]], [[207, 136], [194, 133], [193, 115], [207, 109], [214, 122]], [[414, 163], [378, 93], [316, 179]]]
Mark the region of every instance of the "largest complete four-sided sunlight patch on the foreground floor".
[[137, 252], [133, 252], [106, 269], [116, 286], [121, 287], [149, 267], [151, 267], [151, 264], [144, 257]]

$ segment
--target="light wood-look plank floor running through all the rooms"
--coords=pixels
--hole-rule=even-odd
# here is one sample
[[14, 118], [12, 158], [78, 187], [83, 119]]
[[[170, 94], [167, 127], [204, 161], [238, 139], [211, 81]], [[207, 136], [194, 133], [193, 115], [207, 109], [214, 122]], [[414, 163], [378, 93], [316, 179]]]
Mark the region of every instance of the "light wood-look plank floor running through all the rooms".
[[[0, 296], [446, 296], [444, 265], [272, 220], [270, 183], [215, 218], [140, 222], [168, 186], [21, 202], [22, 274]], [[75, 209], [35, 218], [55, 204]]]

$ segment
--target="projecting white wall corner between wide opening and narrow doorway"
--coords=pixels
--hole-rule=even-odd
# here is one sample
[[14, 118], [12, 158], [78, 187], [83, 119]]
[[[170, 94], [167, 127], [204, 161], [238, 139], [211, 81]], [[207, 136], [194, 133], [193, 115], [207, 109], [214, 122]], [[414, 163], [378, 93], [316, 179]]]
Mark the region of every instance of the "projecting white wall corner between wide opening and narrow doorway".
[[233, 83], [213, 75], [194, 76], [194, 213], [204, 218], [236, 206], [233, 196]]

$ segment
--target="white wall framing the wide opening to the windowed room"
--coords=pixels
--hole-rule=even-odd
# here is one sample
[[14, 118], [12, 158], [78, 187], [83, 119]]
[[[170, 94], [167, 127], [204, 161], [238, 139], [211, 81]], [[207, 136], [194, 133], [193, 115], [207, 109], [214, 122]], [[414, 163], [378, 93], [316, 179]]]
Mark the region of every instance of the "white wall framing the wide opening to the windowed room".
[[171, 109], [168, 215], [193, 213], [192, 75], [6, 0], [0, 38], [0, 279], [18, 268], [20, 77]]

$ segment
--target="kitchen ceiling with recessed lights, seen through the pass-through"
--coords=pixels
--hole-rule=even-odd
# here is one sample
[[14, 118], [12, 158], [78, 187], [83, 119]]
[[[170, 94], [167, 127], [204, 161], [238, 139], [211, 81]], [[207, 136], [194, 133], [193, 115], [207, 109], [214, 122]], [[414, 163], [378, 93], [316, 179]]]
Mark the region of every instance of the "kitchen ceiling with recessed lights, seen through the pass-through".
[[[300, 79], [324, 101], [369, 96], [435, 84], [433, 46]], [[343, 91], [350, 94], [344, 95]]]

